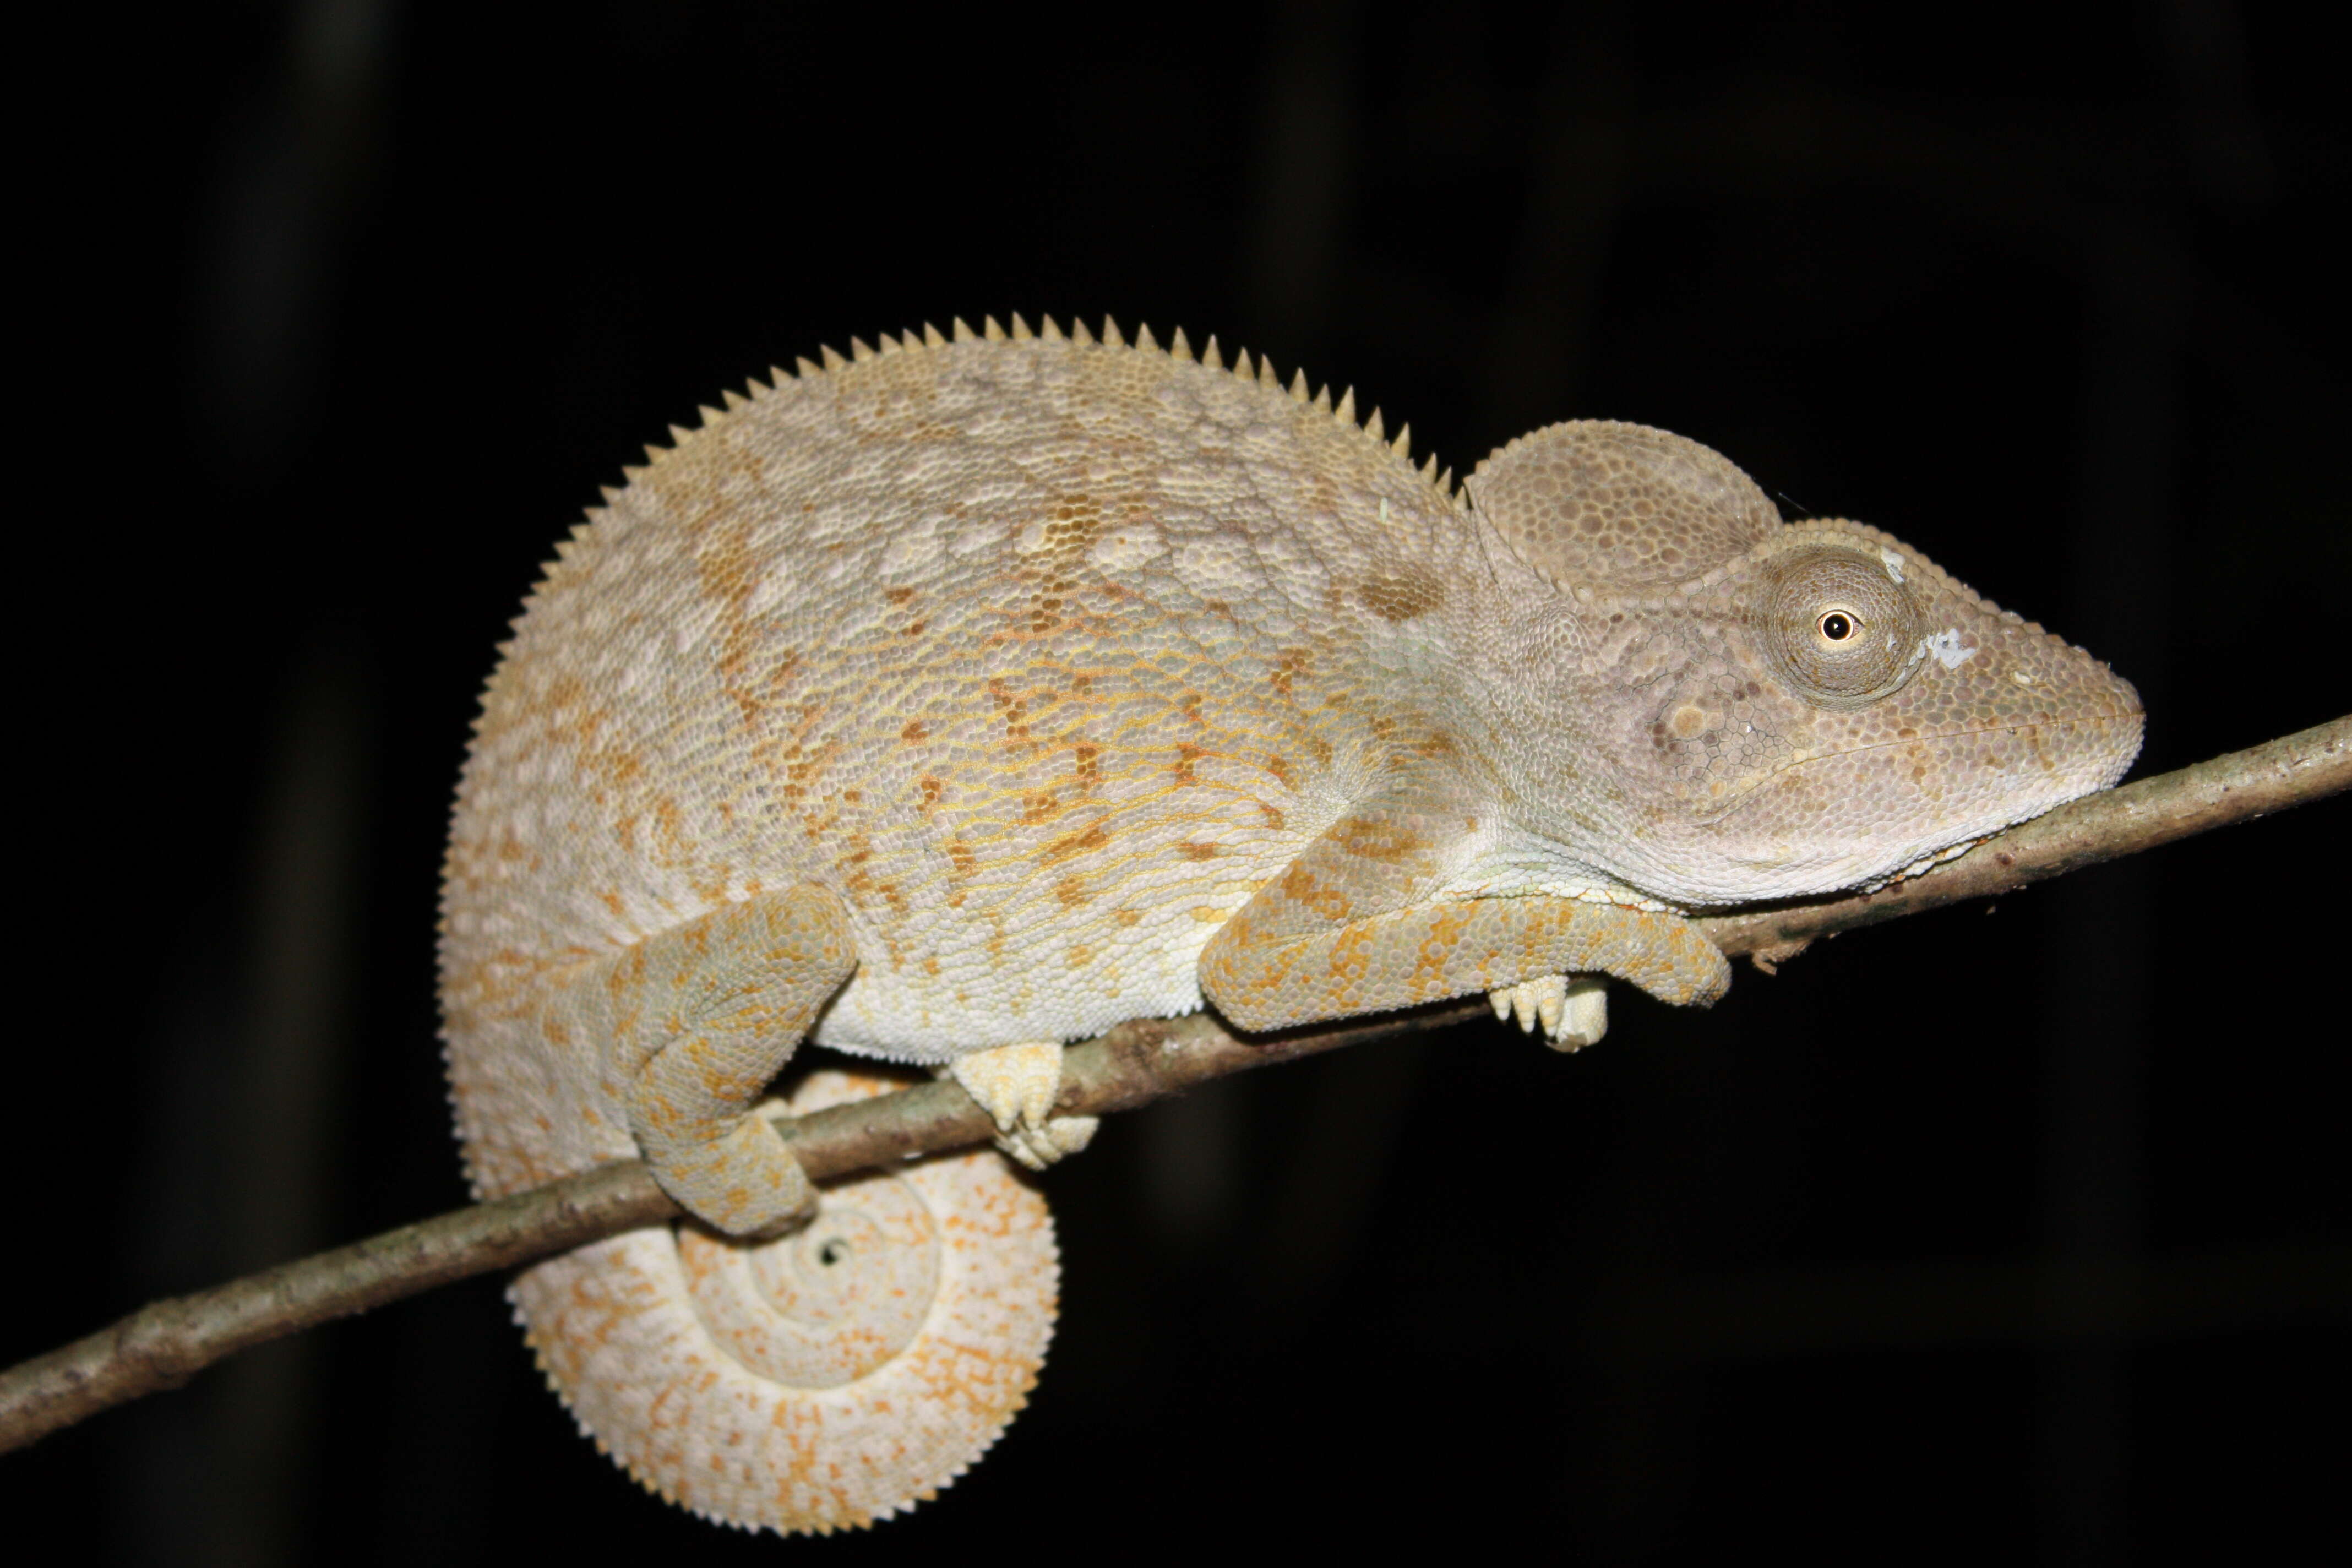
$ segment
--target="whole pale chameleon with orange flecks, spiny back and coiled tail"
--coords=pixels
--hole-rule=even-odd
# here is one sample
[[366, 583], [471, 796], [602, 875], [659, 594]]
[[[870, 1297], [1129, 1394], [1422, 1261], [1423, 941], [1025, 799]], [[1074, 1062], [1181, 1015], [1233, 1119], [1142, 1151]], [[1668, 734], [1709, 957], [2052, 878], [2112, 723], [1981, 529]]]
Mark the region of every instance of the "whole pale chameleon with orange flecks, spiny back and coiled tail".
[[995, 1152], [811, 1190], [762, 1105], [800, 1039], [953, 1072], [1044, 1164], [1091, 1133], [1063, 1041], [1124, 1018], [1486, 992], [1588, 1044], [1602, 976], [1724, 992], [1684, 910], [1922, 870], [2138, 752], [2089, 654], [1677, 435], [1562, 423], [1456, 489], [1214, 339], [854, 348], [557, 545], [445, 879], [477, 1194], [642, 1154], [694, 1215], [513, 1298], [581, 1427], [710, 1519], [929, 1497], [1051, 1333]]

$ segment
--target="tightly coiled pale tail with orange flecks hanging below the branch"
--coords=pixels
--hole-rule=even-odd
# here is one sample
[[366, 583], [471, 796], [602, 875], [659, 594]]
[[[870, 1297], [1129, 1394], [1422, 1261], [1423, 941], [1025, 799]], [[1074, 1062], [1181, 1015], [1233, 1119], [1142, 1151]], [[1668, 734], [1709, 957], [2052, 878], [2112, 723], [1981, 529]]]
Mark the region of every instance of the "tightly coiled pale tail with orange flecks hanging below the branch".
[[[764, 1110], [896, 1086], [811, 1072]], [[1037, 1382], [1058, 1286], [1044, 1199], [981, 1150], [828, 1185], [774, 1241], [637, 1229], [510, 1295], [548, 1382], [647, 1490], [823, 1535], [934, 1497], [995, 1443]]]

